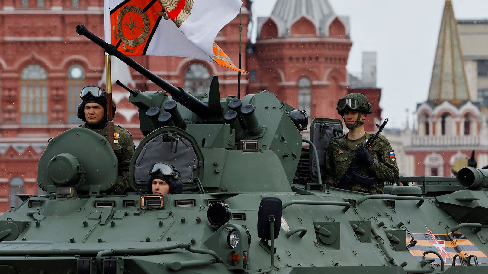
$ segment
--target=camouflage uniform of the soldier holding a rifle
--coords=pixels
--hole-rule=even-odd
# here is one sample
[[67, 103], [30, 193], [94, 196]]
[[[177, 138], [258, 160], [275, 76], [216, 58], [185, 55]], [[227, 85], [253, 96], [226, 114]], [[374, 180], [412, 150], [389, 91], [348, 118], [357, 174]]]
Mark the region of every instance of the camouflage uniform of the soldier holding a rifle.
[[[371, 134], [366, 133], [366, 138]], [[339, 181], [349, 168], [359, 145], [353, 149], [347, 146], [347, 135], [333, 137], [330, 139], [327, 152], [325, 154], [326, 178], [325, 183], [337, 187]], [[398, 165], [396, 160], [390, 158], [392, 151], [391, 145], [385, 136], [381, 135], [376, 139], [372, 146], [374, 163], [366, 168], [364, 165], [358, 169], [358, 173], [365, 176], [374, 176], [375, 184], [366, 185], [351, 182], [348, 189], [373, 194], [383, 193], [384, 182], [396, 182], [399, 179]], [[393, 158], [396, 159], [396, 158]]]

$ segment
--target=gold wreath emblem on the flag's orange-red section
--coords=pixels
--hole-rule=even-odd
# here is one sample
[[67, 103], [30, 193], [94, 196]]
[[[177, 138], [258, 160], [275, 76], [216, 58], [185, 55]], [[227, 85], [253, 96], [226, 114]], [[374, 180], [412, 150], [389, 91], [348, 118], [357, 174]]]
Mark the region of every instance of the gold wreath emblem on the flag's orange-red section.
[[[139, 15], [141, 16], [142, 19], [142, 27], [136, 25], [136, 21], [132, 20], [130, 14], [133, 15]], [[124, 16], [127, 15], [129, 17], [129, 24], [127, 23], [122, 23], [122, 19]], [[127, 33], [126, 35], [132, 36], [132, 39], [127, 38], [123, 31], [122, 31], [122, 24], [126, 25], [131, 33]], [[122, 48], [126, 52], [133, 52], [131, 49], [127, 49], [126, 46], [129, 47], [137, 47], [140, 46], [146, 39], [147, 36], [149, 36], [149, 30], [150, 25], [149, 25], [149, 18], [145, 14], [145, 12], [142, 10], [142, 8], [138, 6], [133, 6], [133, 5], [127, 5], [122, 8], [122, 10], [119, 13], [119, 16], [117, 17], [117, 29], [116, 26], [112, 27], [114, 30], [114, 37], [116, 39], [121, 39], [122, 40]], [[136, 38], [136, 34], [134, 33], [134, 28], [136, 29], [142, 29], [142, 33]]]

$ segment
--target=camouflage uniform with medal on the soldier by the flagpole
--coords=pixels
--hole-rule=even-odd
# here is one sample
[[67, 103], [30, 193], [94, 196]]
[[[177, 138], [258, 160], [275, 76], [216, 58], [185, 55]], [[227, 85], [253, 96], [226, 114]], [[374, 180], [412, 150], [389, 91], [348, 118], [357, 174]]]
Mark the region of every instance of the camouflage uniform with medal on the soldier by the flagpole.
[[[83, 124], [80, 127], [88, 128], [86, 127], [86, 124]], [[101, 129], [88, 129], [107, 137], [107, 127]], [[117, 176], [116, 184], [109, 191], [109, 194], [122, 194], [126, 191], [130, 191], [129, 164], [132, 155], [134, 155], [135, 147], [134, 140], [129, 131], [119, 125], [114, 125], [114, 133], [119, 134], [117, 143], [115, 143], [114, 136], [114, 152], [119, 160], [119, 174]]]

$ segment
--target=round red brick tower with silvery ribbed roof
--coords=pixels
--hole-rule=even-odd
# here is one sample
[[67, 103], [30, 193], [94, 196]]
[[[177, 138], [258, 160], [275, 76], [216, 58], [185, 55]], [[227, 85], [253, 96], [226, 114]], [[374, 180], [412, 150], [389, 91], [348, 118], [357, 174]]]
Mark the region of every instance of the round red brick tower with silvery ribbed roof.
[[311, 117], [341, 118], [337, 100], [347, 94], [349, 20], [327, 0], [279, 0], [258, 19], [248, 49], [249, 93], [270, 90]]

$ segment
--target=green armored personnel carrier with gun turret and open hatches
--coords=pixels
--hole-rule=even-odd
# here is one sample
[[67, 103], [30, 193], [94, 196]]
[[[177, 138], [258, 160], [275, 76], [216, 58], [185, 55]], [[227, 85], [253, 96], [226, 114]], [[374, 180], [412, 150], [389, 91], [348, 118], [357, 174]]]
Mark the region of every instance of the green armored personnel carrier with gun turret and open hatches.
[[[47, 194], [0, 216], [1, 274], [488, 272], [486, 170], [402, 177], [384, 195], [326, 187], [341, 121], [314, 119], [305, 140], [270, 92], [221, 98], [213, 77], [192, 96], [118, 55], [163, 89], [131, 90], [145, 135], [135, 192], [107, 195], [118, 167], [106, 138], [84, 128], [52, 138], [39, 162]], [[147, 194], [155, 162], [178, 169], [183, 194]]]

